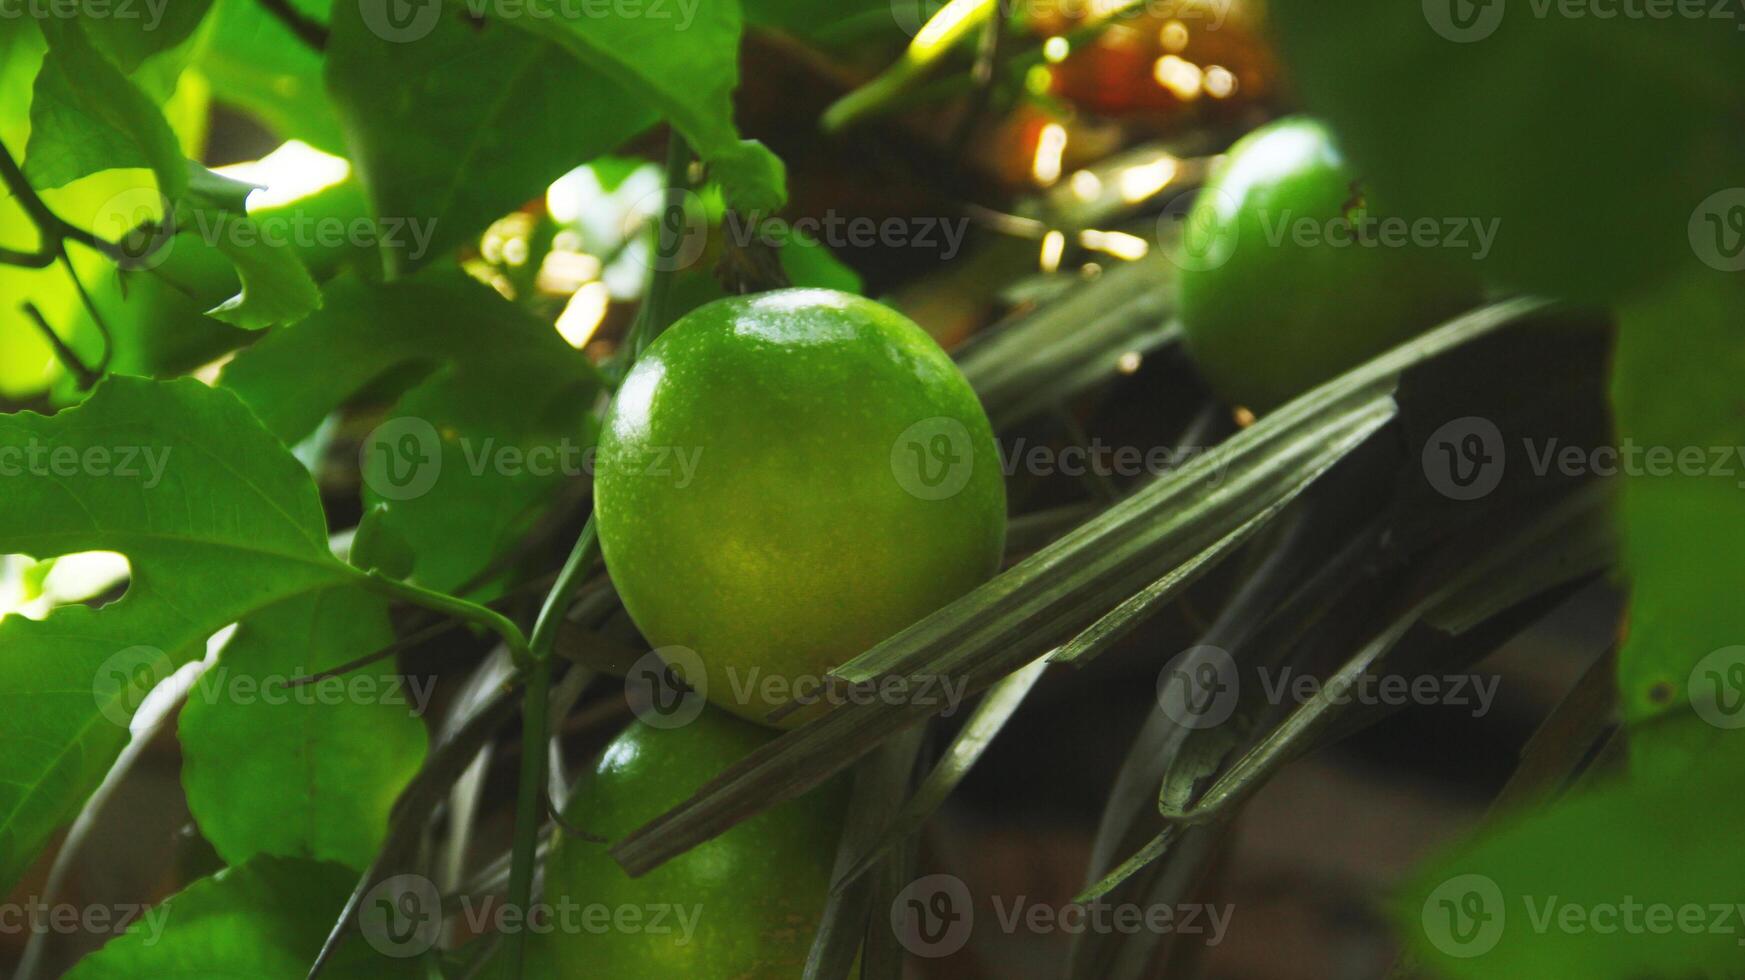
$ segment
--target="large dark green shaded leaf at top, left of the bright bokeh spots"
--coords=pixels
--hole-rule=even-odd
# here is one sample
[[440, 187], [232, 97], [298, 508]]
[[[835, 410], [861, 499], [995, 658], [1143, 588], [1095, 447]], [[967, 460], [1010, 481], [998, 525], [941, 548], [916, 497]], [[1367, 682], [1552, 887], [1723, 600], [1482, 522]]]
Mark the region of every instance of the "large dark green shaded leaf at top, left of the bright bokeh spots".
[[476, 237], [654, 113], [562, 47], [496, 21], [441, 17], [401, 44], [340, 3], [328, 89], [380, 218], [435, 227], [387, 255], [407, 272]]

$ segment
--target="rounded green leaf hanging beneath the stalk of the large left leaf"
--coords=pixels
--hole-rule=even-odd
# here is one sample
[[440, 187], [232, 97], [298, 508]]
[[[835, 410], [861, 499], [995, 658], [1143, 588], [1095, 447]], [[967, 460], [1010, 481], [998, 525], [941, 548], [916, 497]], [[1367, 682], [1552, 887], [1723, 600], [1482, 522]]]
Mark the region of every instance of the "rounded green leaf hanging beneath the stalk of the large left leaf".
[[180, 720], [181, 783], [225, 861], [276, 854], [368, 867], [394, 799], [424, 762], [419, 692], [393, 659], [286, 684], [393, 640], [382, 600], [328, 589], [248, 617], [195, 682]]

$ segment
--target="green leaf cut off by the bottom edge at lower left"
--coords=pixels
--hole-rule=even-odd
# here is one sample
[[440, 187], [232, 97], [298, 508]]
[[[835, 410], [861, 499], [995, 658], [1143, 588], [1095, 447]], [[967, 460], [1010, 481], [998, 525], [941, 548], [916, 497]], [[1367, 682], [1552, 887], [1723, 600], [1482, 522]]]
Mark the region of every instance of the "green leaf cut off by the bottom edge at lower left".
[[[82, 959], [68, 980], [304, 980], [354, 872], [339, 865], [262, 858], [225, 868], [147, 910], [122, 936]], [[349, 943], [328, 977], [421, 977], [417, 959], [389, 959]]]

